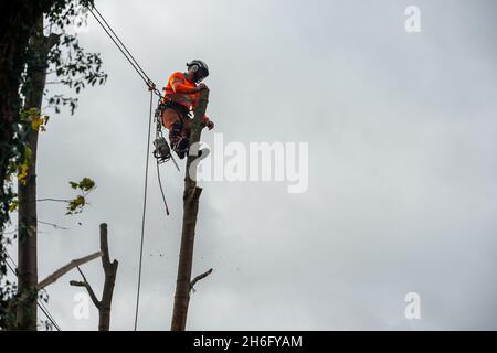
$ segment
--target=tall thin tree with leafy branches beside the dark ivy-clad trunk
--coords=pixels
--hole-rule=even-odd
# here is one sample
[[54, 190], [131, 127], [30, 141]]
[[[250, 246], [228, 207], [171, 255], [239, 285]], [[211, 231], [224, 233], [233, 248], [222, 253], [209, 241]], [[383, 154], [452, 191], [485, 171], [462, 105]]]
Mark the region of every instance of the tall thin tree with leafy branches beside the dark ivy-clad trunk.
[[[49, 23], [59, 32], [57, 34], [45, 35], [41, 18], [28, 45], [27, 73], [22, 85], [25, 99], [24, 109], [21, 113], [27, 116], [29, 122], [21, 129], [27, 136], [28, 153], [21, 164], [20, 176], [22, 178], [19, 178], [18, 182], [18, 297], [22, 296], [27, 300], [18, 304], [17, 328], [19, 330], [36, 330], [38, 323], [38, 296], [34, 290], [38, 282], [36, 156], [39, 131], [46, 124], [46, 118], [42, 117], [42, 103], [47, 68], [50, 67], [57, 77], [62, 77], [59, 83], [75, 88], [76, 93], [85, 86], [85, 82], [102, 84], [106, 78], [106, 75], [101, 72], [102, 61], [98, 54], [84, 52], [77, 38], [64, 30], [66, 21], [81, 20], [83, 9], [81, 6], [71, 3], [61, 13], [49, 15]], [[61, 110], [62, 105], [70, 105], [73, 114], [77, 103], [77, 98], [61, 95], [47, 100], [56, 113]], [[31, 295], [24, 296], [27, 292]]]

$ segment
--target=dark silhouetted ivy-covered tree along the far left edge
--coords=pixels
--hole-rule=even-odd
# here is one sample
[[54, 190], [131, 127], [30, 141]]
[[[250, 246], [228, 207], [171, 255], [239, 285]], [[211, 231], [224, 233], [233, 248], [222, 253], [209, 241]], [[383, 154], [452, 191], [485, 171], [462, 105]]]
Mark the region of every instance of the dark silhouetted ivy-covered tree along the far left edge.
[[[0, 2], [0, 280], [6, 275], [3, 246], [10, 239], [3, 231], [9, 223], [9, 207], [14, 193], [12, 175], [28, 154], [28, 135], [19, 131], [24, 124], [21, 114], [20, 86], [28, 64], [28, 44], [44, 14], [60, 17], [73, 0], [15, 0]], [[78, 0], [80, 4], [93, 4], [93, 0]], [[0, 328], [6, 321], [8, 301], [12, 296], [9, 284], [0, 287]], [[31, 320], [31, 319], [30, 319]]]

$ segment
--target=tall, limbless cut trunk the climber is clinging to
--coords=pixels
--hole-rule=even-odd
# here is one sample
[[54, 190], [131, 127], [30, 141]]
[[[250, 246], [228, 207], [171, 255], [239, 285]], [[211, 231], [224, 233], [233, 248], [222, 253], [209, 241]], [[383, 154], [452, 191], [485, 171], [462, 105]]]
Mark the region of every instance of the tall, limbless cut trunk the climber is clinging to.
[[[190, 150], [198, 150], [198, 142], [204, 127], [202, 117], [205, 115], [209, 101], [209, 89], [200, 92], [200, 101], [191, 121]], [[193, 145], [193, 146], [192, 146]], [[193, 153], [197, 154], [197, 153]], [[183, 225], [181, 229], [181, 247], [176, 282], [175, 307], [172, 311], [171, 331], [184, 331], [187, 325], [188, 306], [190, 302], [191, 269], [193, 265], [193, 245], [195, 238], [199, 197], [202, 189], [197, 186], [197, 156], [187, 159], [183, 192]], [[193, 176], [194, 179], [192, 179]]]

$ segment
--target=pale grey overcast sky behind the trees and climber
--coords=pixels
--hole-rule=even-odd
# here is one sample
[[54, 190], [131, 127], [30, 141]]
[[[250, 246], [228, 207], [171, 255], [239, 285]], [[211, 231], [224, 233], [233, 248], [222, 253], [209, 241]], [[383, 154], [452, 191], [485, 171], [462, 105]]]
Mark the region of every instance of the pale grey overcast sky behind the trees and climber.
[[[190, 330], [497, 329], [497, 3], [463, 1], [98, 1], [129, 50], [163, 86], [201, 58], [208, 115], [224, 140], [308, 142], [309, 189], [205, 182], [200, 200]], [[404, 10], [421, 9], [421, 33]], [[119, 260], [112, 328], [133, 330], [148, 99], [89, 18], [81, 41], [102, 53], [108, 83], [75, 116], [53, 116], [40, 140], [39, 197], [97, 189], [80, 216], [43, 203], [40, 278], [98, 249], [108, 223]], [[161, 167], [167, 217], [150, 165], [139, 330], [169, 330], [182, 216], [183, 164]], [[82, 225], [77, 223], [81, 222]], [[15, 254], [15, 249], [11, 249]], [[84, 266], [99, 292], [99, 261]], [[51, 285], [63, 330], [81, 291]], [[421, 320], [404, 297], [421, 296]], [[41, 314], [42, 315], [42, 314]]]

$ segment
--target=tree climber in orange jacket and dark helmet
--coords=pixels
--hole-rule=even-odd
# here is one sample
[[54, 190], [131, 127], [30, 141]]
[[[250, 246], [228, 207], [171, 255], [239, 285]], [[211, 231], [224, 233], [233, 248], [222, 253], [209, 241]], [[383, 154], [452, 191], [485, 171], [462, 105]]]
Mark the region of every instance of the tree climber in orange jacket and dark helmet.
[[[199, 104], [199, 92], [207, 86], [200, 83], [209, 76], [207, 64], [200, 60], [193, 60], [187, 64], [187, 73], [173, 73], [163, 88], [162, 125], [169, 130], [169, 142], [172, 150], [180, 159], [187, 156], [190, 145], [190, 111]], [[207, 116], [203, 116], [209, 130], [214, 128]]]

